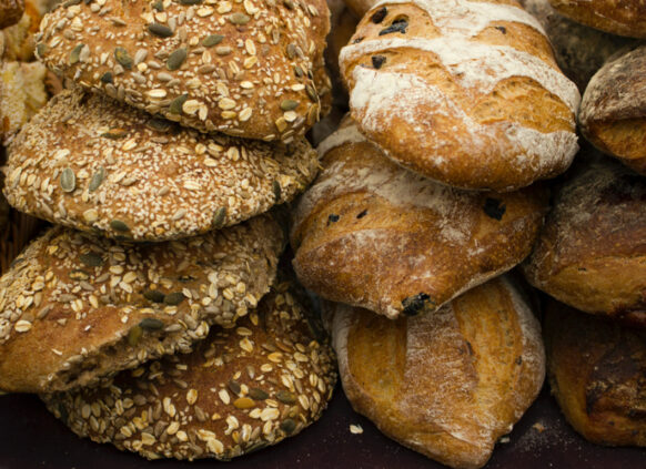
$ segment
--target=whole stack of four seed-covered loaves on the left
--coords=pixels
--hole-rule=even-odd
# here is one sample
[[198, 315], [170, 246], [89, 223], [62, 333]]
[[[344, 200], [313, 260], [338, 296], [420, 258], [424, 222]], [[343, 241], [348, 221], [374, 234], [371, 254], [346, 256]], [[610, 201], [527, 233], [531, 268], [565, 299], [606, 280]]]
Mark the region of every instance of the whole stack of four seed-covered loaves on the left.
[[323, 2], [46, 16], [37, 54], [69, 89], [12, 140], [4, 194], [57, 226], [0, 279], [1, 389], [151, 459], [230, 459], [320, 417], [333, 353], [281, 281], [272, 207], [316, 174], [327, 30]]

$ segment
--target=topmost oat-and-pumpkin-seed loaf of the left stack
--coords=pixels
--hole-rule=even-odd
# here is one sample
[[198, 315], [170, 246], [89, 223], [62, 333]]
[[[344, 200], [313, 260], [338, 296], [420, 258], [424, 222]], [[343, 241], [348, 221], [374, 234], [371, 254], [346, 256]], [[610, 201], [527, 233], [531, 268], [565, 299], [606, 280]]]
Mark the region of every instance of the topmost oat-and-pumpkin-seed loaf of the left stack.
[[201, 131], [289, 142], [319, 119], [325, 1], [65, 2], [38, 55], [84, 88]]

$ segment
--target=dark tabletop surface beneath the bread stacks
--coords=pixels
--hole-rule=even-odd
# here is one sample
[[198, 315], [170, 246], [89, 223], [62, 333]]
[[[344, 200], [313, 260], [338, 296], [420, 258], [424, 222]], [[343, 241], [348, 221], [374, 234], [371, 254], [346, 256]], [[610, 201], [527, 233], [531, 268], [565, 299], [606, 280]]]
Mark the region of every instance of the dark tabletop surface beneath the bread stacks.
[[[340, 388], [323, 418], [305, 431], [231, 462], [150, 462], [109, 445], [80, 439], [34, 396], [1, 396], [0, 419], [1, 469], [443, 468], [380, 434], [352, 410]], [[351, 424], [361, 425], [364, 432], [352, 435]], [[539, 432], [533, 427], [535, 424], [545, 430]], [[509, 442], [498, 443], [486, 468], [646, 468], [646, 450], [588, 443], [563, 420], [555, 401], [544, 390], [509, 435]]]

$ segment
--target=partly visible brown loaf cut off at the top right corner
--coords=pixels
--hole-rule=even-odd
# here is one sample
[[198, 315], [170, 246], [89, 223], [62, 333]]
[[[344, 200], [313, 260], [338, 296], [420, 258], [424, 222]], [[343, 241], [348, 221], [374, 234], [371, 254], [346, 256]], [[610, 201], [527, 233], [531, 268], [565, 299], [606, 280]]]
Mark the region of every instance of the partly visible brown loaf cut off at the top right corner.
[[640, 0], [549, 0], [576, 22], [613, 34], [646, 38], [646, 6]]

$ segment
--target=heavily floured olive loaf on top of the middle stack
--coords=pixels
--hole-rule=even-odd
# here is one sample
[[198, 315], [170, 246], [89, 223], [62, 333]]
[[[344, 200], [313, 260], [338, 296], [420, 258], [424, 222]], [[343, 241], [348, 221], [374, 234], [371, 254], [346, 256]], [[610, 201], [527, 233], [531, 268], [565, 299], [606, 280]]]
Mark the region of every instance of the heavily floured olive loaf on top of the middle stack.
[[576, 85], [513, 0], [382, 1], [340, 64], [360, 131], [427, 177], [511, 191], [576, 153]]

